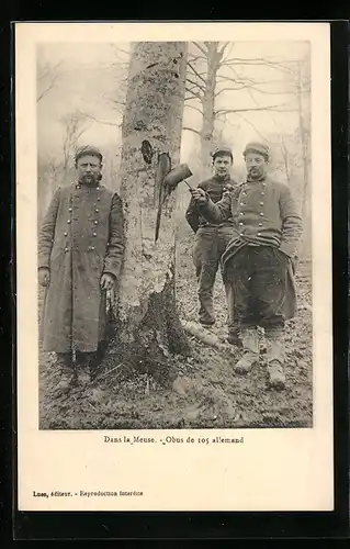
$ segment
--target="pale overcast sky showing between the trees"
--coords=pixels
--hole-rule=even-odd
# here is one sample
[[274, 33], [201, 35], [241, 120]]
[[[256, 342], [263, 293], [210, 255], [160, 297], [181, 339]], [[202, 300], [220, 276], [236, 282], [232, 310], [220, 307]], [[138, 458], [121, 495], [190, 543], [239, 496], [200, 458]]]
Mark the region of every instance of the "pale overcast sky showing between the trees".
[[[121, 78], [121, 68], [126, 71], [127, 66], [117, 64], [127, 60], [128, 44], [117, 43], [116, 51], [113, 44], [101, 43], [72, 43], [72, 44], [42, 44], [37, 51], [38, 67], [45, 67], [46, 63], [55, 66], [57, 79], [55, 87], [37, 103], [37, 135], [41, 154], [57, 156], [61, 148], [64, 125], [60, 119], [67, 113], [79, 109], [82, 112], [93, 114], [100, 122], [91, 121], [90, 127], [82, 136], [86, 143], [93, 142], [102, 149], [115, 144], [120, 146], [121, 123], [120, 113], [113, 108], [108, 97], [117, 97]], [[252, 59], [261, 57], [274, 57], [278, 59], [298, 59], [308, 53], [308, 43], [305, 42], [237, 42], [230, 44], [229, 56], [240, 59]], [[234, 72], [236, 71], [236, 72]], [[291, 100], [285, 94], [274, 94], [285, 87], [283, 75], [279, 71], [267, 69], [266, 66], [240, 67], [233, 66], [225, 69], [222, 75], [230, 77], [245, 75], [261, 79], [261, 81], [273, 81], [266, 86], [264, 93], [249, 94], [247, 90], [227, 91], [219, 96], [216, 108], [246, 109], [261, 105], [284, 104]], [[123, 71], [122, 71], [123, 74]], [[281, 80], [282, 79], [282, 80]], [[281, 83], [282, 82], [282, 83]], [[38, 89], [45, 85], [45, 79], [38, 82]], [[281, 87], [282, 86], [282, 87]], [[271, 96], [267, 91], [272, 91]], [[185, 110], [183, 124], [197, 127], [200, 119], [194, 110]], [[106, 123], [103, 123], [106, 122]], [[225, 137], [233, 143], [234, 153], [241, 158], [244, 145], [250, 139], [259, 139], [260, 134], [292, 132], [297, 125], [295, 113], [273, 114], [268, 112], [250, 112], [238, 115], [229, 115], [225, 130]], [[259, 134], [257, 133], [257, 130]], [[197, 137], [190, 132], [183, 132], [182, 136], [182, 161], [191, 157], [191, 149]], [[59, 153], [58, 153], [59, 154]]]

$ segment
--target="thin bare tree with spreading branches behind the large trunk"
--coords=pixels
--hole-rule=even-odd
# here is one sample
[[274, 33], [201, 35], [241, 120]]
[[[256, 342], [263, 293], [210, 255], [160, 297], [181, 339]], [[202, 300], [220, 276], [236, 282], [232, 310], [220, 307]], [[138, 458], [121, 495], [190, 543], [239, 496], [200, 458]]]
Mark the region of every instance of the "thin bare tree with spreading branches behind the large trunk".
[[[199, 135], [201, 143], [201, 165], [203, 177], [210, 173], [210, 153], [214, 146], [214, 130], [217, 122], [226, 120], [227, 115], [235, 114], [244, 117], [242, 113], [255, 111], [285, 112], [289, 103], [282, 103], [278, 96], [294, 92], [294, 90], [275, 89], [272, 83], [283, 83], [283, 76], [289, 74], [289, 63], [275, 58], [238, 58], [232, 56], [234, 43], [204, 42], [193, 43], [193, 52], [189, 54], [185, 107], [201, 114], [200, 128], [185, 126], [184, 130]], [[247, 67], [267, 67], [268, 74], [276, 76], [267, 80], [253, 79], [241, 69]], [[267, 88], [268, 86], [268, 88]], [[251, 98], [252, 92], [264, 97], [264, 101], [256, 102], [247, 108], [225, 108], [217, 103], [222, 94], [246, 90]], [[275, 96], [275, 97], [274, 97]], [[271, 98], [273, 102], [271, 104]], [[270, 101], [269, 101], [270, 100]], [[249, 122], [248, 122], [249, 123]]]

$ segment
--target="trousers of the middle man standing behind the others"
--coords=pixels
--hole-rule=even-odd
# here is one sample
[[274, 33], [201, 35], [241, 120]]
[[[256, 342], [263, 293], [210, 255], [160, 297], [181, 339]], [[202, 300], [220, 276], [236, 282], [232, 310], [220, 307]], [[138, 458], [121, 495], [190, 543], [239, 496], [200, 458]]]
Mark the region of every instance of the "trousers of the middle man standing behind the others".
[[[215, 323], [213, 288], [218, 267], [221, 266], [221, 257], [232, 237], [233, 229], [229, 226], [200, 227], [195, 234], [193, 262], [197, 280], [199, 316], [200, 322], [203, 324]], [[233, 320], [233, 292], [230, 287], [226, 284], [225, 279], [224, 284], [228, 306], [228, 325], [233, 326], [235, 324]]]

